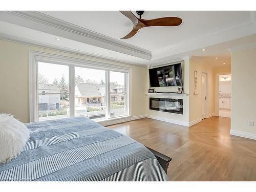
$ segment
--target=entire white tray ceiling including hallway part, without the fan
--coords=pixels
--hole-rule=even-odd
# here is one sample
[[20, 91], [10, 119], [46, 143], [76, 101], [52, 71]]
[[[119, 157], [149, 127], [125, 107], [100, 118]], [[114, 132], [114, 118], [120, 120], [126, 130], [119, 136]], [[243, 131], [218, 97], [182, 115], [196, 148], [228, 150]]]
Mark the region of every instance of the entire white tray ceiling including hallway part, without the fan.
[[255, 11], [145, 11], [142, 18], [166, 16], [181, 17], [183, 23], [143, 28], [120, 40], [133, 25], [119, 11], [0, 11], [0, 38], [136, 65], [191, 56], [211, 66], [230, 65], [229, 49], [256, 45]]

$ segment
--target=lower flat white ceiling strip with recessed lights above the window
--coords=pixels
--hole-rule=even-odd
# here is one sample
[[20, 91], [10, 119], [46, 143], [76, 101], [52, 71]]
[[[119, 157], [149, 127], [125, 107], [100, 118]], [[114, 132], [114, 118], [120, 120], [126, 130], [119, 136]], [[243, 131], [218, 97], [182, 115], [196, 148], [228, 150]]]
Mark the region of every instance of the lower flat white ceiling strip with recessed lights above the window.
[[[60, 50], [85, 53], [96, 57], [104, 57], [113, 59], [116, 58], [122, 62], [139, 61], [140, 58], [122, 54], [108, 49], [101, 49], [97, 46], [84, 44], [79, 41], [74, 41], [68, 38], [59, 37], [61, 40], [56, 40], [58, 36], [36, 31], [33, 29], [17, 26], [0, 20], [0, 36], [5, 39], [14, 39], [17, 41], [29, 42], [33, 45], [42, 45], [50, 48], [58, 48]], [[111, 57], [114, 55], [114, 57]], [[144, 60], [144, 59], [143, 59]]]

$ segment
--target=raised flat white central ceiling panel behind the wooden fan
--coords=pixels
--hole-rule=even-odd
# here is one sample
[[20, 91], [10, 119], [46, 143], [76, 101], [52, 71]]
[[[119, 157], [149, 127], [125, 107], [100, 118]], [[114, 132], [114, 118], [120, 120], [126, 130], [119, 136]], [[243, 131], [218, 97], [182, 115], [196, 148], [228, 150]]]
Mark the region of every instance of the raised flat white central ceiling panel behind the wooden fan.
[[[41, 11], [71, 24], [120, 39], [133, 29], [133, 23], [119, 11]], [[136, 12], [134, 12], [136, 16]], [[156, 51], [181, 41], [228, 29], [248, 22], [249, 11], [145, 11], [144, 19], [176, 16], [183, 22], [178, 27], [147, 27], [130, 39], [129, 44]], [[148, 40], [150, 39], [150, 40]]]

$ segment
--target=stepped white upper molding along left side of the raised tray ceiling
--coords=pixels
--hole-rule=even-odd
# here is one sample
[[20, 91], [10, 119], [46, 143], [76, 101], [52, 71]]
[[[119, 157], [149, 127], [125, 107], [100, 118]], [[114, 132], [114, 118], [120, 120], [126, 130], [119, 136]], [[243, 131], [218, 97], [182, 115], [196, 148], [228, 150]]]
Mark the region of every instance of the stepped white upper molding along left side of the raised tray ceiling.
[[70, 24], [37, 11], [1, 11], [0, 19], [22, 27], [151, 60], [151, 51]]

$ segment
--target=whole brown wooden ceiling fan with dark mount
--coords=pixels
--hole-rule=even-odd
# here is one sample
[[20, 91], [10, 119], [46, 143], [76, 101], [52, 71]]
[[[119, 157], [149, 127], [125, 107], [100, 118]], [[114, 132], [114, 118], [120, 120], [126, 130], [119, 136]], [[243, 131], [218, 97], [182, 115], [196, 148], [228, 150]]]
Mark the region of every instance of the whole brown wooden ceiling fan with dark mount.
[[132, 11], [120, 11], [124, 16], [130, 18], [133, 22], [133, 30], [124, 36], [121, 39], [128, 39], [134, 36], [139, 29], [143, 27], [152, 27], [152, 26], [179, 26], [182, 23], [182, 19], [179, 17], [162, 17], [156, 19], [142, 19], [141, 15], [144, 11], [136, 11], [140, 16], [137, 18]]

